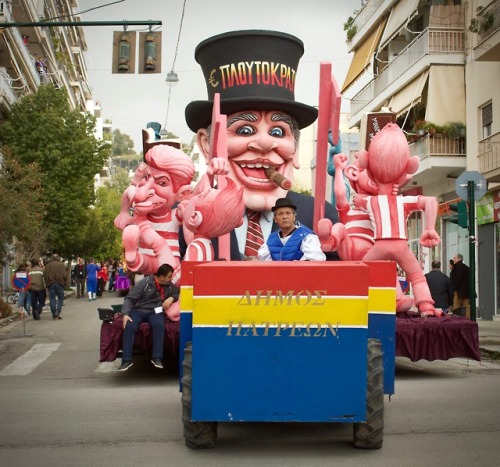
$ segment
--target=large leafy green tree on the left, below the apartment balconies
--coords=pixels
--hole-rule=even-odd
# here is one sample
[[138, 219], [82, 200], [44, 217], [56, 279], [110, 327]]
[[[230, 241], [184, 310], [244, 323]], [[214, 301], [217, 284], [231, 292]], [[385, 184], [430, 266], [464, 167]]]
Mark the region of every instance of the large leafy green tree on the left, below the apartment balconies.
[[94, 127], [94, 117], [71, 109], [66, 92], [52, 85], [16, 102], [0, 127], [3, 149], [22, 166], [38, 165], [47, 241], [66, 257], [84, 243], [95, 200], [94, 177], [109, 157], [107, 145], [94, 137]]

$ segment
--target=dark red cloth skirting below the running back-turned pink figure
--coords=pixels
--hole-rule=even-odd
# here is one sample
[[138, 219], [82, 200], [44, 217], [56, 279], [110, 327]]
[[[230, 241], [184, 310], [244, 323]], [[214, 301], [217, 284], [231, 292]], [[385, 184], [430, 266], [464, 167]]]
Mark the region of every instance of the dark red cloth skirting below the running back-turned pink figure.
[[418, 360], [481, 360], [479, 329], [461, 316], [396, 318], [396, 357]]

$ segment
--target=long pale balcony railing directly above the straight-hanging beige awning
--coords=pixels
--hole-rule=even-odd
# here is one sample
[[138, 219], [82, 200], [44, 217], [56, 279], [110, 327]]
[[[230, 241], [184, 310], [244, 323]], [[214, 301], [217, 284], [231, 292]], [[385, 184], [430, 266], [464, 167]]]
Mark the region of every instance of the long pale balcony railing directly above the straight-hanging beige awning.
[[427, 28], [416, 37], [382, 72], [351, 100], [351, 113], [360, 112], [394, 80], [403, 75], [425, 55], [464, 53], [464, 31], [449, 28]]

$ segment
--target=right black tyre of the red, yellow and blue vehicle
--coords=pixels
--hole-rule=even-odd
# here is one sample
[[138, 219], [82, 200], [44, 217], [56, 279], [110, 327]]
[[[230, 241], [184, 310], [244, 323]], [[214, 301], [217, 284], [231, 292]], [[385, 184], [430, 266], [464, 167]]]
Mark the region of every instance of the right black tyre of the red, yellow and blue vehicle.
[[354, 447], [380, 449], [384, 441], [384, 369], [382, 344], [368, 339], [366, 422], [354, 424]]

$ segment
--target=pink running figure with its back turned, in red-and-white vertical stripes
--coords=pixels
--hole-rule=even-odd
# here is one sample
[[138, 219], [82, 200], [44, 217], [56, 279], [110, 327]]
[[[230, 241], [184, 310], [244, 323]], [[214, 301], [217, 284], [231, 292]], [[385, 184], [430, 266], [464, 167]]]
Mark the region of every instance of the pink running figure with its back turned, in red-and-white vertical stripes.
[[378, 187], [377, 195], [356, 195], [355, 205], [365, 210], [374, 226], [374, 245], [363, 261], [393, 260], [405, 271], [413, 288], [415, 304], [422, 316], [438, 315], [427, 281], [415, 255], [408, 247], [407, 220], [413, 211], [424, 211], [425, 230], [420, 243], [426, 247], [439, 244], [434, 225], [437, 200], [431, 196], [403, 196], [397, 191], [419, 166], [418, 156], [410, 157], [403, 131], [395, 124], [386, 125], [372, 139], [368, 151], [358, 154], [360, 167]]

